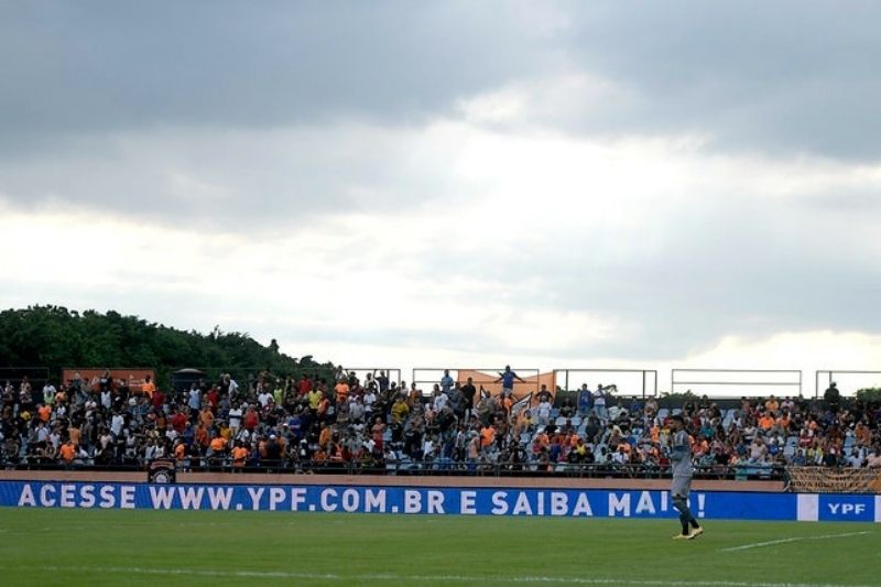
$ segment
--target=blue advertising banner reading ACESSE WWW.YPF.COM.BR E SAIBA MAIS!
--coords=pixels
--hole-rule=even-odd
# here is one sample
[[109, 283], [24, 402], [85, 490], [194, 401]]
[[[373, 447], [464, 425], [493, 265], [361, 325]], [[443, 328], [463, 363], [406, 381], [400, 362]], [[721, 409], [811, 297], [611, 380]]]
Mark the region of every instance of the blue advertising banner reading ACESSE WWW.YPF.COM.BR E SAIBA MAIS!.
[[[693, 492], [697, 518], [877, 521], [874, 496]], [[666, 491], [0, 481], [0, 506], [576, 518], [674, 518]]]

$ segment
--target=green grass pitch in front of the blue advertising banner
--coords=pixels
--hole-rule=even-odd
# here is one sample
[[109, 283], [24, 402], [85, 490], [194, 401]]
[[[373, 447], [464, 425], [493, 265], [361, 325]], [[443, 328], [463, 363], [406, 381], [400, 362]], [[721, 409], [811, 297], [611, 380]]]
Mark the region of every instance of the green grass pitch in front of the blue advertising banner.
[[673, 520], [9, 508], [0, 584], [881, 585], [873, 524], [705, 525], [676, 542]]

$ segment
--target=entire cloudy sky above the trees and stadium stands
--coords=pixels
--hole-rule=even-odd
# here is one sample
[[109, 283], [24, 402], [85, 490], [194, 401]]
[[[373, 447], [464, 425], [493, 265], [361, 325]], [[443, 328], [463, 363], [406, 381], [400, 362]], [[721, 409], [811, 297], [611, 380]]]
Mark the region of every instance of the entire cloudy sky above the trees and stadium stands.
[[881, 369], [881, 4], [0, 3], [2, 307]]

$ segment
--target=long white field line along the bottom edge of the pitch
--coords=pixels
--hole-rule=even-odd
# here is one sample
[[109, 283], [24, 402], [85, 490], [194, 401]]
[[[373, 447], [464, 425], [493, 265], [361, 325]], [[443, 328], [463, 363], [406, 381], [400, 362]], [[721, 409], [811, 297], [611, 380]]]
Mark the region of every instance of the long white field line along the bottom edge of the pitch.
[[626, 578], [579, 578], [579, 577], [493, 577], [467, 575], [396, 575], [393, 573], [338, 575], [336, 573], [296, 573], [285, 570], [210, 570], [192, 568], [155, 568], [122, 566], [0, 566], [0, 569], [50, 570], [62, 573], [119, 573], [124, 575], [155, 575], [172, 577], [216, 577], [216, 578], [257, 578], [257, 579], [301, 579], [350, 583], [358, 581], [393, 581], [396, 584], [413, 583], [467, 583], [467, 584], [558, 584], [558, 585], [629, 585], [633, 587], [871, 587], [870, 585], [844, 585], [834, 583], [753, 583], [735, 580], [639, 580]]

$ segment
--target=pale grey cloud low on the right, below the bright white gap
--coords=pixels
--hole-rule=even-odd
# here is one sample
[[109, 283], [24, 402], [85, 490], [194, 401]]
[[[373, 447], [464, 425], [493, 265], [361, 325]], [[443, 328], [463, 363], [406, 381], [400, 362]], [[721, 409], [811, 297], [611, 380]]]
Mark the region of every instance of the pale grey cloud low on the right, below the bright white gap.
[[[425, 264], [449, 268], [447, 279], [482, 275], [501, 283], [514, 307], [586, 312], [628, 328], [620, 337], [555, 350], [561, 357], [677, 359], [715, 346], [722, 335], [881, 333], [874, 308], [881, 271], [860, 236], [870, 217], [728, 196], [668, 210], [657, 218], [665, 232], [660, 244], [638, 244], [626, 260], [603, 258], [605, 243], [639, 242], [641, 235], [550, 232], [545, 247], [516, 250], [516, 261], [444, 251]], [[527, 279], [543, 285], [524, 286]]]

